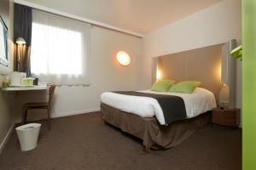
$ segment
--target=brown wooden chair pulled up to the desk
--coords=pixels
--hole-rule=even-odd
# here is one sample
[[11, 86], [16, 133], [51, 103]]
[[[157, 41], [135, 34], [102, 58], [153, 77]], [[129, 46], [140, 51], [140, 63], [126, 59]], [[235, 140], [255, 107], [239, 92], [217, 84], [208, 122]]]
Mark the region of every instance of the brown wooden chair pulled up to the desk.
[[26, 103], [22, 107], [22, 124], [26, 123], [26, 115], [28, 110], [32, 109], [46, 109], [47, 110], [47, 119], [48, 119], [48, 127], [50, 130], [50, 105], [52, 101], [53, 94], [55, 93], [55, 85], [49, 85], [49, 99], [48, 102], [38, 102], [38, 103]]

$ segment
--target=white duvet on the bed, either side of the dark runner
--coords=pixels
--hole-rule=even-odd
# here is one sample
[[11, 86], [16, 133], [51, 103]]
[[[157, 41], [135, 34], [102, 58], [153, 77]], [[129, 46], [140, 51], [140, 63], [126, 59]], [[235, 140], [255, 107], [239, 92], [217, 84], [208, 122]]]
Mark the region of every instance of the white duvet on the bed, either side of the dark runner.
[[[170, 92], [139, 91], [148, 94], [166, 94], [179, 96], [184, 100], [187, 117], [195, 117], [216, 107], [214, 94], [205, 88], [195, 88], [193, 94]], [[165, 125], [163, 111], [156, 99], [125, 94], [105, 92], [101, 95], [102, 103], [121, 111], [130, 112], [142, 117], [156, 117], [161, 125]]]

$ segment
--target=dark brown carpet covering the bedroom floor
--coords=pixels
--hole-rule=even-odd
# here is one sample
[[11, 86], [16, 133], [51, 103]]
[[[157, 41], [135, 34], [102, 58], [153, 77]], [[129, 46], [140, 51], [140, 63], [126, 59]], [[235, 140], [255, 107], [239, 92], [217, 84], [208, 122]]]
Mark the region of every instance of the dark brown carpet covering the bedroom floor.
[[102, 123], [100, 113], [42, 121], [38, 147], [21, 152], [15, 131], [0, 156], [12, 170], [240, 170], [241, 129], [207, 125], [170, 150], [143, 150], [142, 141]]

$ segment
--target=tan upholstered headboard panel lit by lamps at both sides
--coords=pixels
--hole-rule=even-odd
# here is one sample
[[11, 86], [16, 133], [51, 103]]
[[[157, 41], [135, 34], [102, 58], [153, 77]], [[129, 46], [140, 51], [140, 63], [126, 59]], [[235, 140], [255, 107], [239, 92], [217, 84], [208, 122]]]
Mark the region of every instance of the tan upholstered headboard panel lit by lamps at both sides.
[[218, 44], [158, 57], [157, 70], [160, 71], [161, 79], [200, 81], [201, 87], [210, 90], [218, 102], [219, 90], [223, 85], [222, 46], [223, 44]]

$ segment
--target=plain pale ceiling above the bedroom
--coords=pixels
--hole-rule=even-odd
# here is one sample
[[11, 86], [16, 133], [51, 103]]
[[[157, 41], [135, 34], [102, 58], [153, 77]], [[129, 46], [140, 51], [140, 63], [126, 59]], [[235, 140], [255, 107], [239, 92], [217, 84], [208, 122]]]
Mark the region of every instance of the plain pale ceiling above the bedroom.
[[223, 0], [26, 0], [142, 34], [221, 1]]

